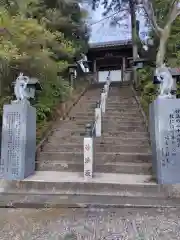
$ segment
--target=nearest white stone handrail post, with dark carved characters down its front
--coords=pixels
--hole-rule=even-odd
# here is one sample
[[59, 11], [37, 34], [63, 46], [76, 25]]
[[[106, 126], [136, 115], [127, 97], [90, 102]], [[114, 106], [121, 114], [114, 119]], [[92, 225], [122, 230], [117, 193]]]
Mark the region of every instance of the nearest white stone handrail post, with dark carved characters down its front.
[[86, 125], [84, 137], [84, 179], [93, 177], [93, 136], [91, 124]]

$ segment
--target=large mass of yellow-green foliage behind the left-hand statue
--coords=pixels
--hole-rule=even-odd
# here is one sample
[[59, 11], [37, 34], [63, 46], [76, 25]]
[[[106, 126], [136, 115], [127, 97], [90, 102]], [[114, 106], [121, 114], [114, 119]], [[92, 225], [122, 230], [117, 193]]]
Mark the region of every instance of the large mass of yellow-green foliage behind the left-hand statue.
[[[11, 83], [20, 71], [37, 77], [42, 86], [34, 102], [38, 122], [70, 92], [64, 72], [74, 56], [85, 51], [88, 29], [78, 0], [0, 1], [0, 113], [12, 99]], [[74, 33], [74, 34], [72, 34]]]

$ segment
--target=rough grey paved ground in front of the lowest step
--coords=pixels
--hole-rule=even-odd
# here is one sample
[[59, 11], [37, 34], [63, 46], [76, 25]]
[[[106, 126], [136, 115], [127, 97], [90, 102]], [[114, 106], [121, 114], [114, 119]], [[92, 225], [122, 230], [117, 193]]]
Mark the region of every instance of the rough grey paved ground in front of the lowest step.
[[0, 209], [0, 239], [178, 240], [180, 209]]

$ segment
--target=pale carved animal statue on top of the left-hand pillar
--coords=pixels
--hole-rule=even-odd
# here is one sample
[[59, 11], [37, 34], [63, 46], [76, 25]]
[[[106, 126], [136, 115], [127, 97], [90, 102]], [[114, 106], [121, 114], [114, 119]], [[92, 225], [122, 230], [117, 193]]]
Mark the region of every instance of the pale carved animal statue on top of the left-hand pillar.
[[14, 93], [16, 96], [16, 100], [14, 102], [27, 100], [29, 98], [29, 94], [27, 92], [29, 80], [29, 77], [24, 76], [23, 73], [19, 74], [14, 85]]

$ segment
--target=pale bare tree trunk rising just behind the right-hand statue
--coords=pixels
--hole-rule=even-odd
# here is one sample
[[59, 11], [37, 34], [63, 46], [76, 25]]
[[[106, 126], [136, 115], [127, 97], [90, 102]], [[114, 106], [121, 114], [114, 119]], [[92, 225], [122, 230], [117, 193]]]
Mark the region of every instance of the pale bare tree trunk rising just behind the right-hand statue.
[[156, 67], [162, 66], [166, 54], [166, 45], [170, 36], [171, 26], [167, 25], [161, 33], [159, 49], [156, 55]]

